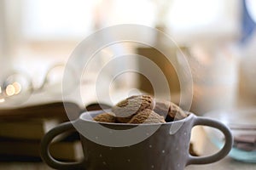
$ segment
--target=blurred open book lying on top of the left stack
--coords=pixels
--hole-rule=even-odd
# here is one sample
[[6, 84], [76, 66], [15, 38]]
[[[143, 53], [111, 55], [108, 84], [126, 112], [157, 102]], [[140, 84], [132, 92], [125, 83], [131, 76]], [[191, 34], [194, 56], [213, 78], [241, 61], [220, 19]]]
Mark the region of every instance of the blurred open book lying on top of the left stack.
[[[51, 128], [67, 122], [66, 111], [79, 117], [80, 108], [74, 103], [55, 102], [0, 110], [0, 137], [40, 140]], [[60, 139], [63, 135], [59, 135]]]

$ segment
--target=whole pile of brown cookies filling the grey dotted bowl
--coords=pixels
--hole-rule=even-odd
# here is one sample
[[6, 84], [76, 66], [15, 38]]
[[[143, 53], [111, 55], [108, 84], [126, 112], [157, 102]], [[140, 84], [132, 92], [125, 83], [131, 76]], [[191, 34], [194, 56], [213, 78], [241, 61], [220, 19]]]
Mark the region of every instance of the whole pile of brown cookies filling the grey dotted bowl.
[[166, 100], [149, 95], [136, 95], [114, 105], [109, 113], [94, 117], [96, 122], [115, 123], [164, 123], [188, 116], [180, 107]]

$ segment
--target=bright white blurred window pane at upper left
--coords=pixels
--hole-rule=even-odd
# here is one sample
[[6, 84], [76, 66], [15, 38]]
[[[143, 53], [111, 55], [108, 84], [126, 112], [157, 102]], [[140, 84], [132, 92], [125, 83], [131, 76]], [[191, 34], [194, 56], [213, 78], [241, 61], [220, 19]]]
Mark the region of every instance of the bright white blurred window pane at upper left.
[[81, 36], [90, 33], [93, 27], [94, 1], [76, 0], [75, 2], [73, 0], [26, 0], [22, 14], [24, 36], [39, 40], [80, 39]]

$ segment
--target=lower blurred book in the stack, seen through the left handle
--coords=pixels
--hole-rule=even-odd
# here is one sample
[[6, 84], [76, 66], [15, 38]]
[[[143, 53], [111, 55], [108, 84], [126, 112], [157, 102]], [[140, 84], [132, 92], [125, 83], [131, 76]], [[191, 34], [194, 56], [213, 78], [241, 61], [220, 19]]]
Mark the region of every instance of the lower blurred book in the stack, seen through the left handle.
[[[83, 157], [82, 145], [79, 137], [68, 139], [70, 136], [78, 136], [78, 133], [69, 135], [66, 139], [53, 142], [49, 145], [51, 156], [57, 160], [75, 161]], [[26, 139], [0, 138], [0, 161], [9, 158], [40, 158], [40, 141]], [[30, 160], [27, 160], [30, 161]]]

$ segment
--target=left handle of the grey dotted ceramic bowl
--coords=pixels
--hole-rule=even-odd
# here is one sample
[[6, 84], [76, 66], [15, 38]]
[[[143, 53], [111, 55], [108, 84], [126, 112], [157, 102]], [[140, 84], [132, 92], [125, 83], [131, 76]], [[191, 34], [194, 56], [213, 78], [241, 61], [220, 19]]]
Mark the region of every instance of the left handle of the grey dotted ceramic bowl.
[[55, 169], [82, 169], [83, 161], [77, 162], [61, 162], [55, 160], [49, 153], [49, 144], [52, 139], [55, 138], [58, 134], [67, 132], [69, 130], [75, 130], [73, 127], [73, 122], [64, 122], [51, 129], [48, 133], [44, 135], [44, 138], [41, 141], [41, 157], [42, 159], [49, 165], [49, 167], [53, 167]]

